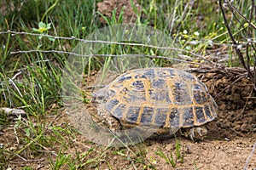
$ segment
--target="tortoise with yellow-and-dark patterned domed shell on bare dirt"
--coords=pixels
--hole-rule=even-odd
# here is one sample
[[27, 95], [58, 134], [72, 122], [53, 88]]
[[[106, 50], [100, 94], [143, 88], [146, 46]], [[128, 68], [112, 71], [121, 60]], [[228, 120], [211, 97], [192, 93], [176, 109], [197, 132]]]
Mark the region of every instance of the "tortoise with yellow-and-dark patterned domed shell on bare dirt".
[[92, 97], [100, 115], [124, 128], [158, 127], [154, 136], [159, 138], [177, 127], [187, 129], [190, 139], [201, 139], [207, 134], [202, 125], [214, 120], [218, 111], [204, 83], [169, 67], [127, 71]]

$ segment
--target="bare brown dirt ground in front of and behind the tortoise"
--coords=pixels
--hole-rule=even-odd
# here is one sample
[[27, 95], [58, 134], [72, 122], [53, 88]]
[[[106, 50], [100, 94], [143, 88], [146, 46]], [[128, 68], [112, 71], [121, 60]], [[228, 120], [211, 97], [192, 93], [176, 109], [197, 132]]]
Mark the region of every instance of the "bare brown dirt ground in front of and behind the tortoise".
[[[219, 107], [218, 118], [207, 124], [207, 137], [200, 142], [192, 142], [184, 137], [180, 139], [182, 159], [177, 159], [175, 154], [176, 139], [146, 139], [143, 143], [127, 148], [106, 148], [105, 146], [91, 143], [81, 134], [76, 134], [70, 139], [66, 133], [63, 138], [69, 143], [63, 148], [63, 153], [69, 154], [74, 160], [81, 156], [79, 169], [242, 169], [247, 164], [247, 169], [256, 169], [256, 99], [252, 83], [247, 78], [237, 77], [214, 78], [214, 74], [206, 74], [202, 82], [215, 97]], [[89, 80], [89, 79], [88, 79]], [[90, 80], [91, 81], [91, 80]], [[254, 97], [254, 98], [253, 98]], [[70, 124], [67, 113], [61, 112], [57, 118], [49, 116], [49, 122], [56, 126], [67, 128]], [[22, 145], [17, 144], [14, 128], [4, 128], [1, 133], [0, 144], [8, 150], [20, 150]], [[253, 144], [254, 147], [253, 147]], [[31, 166], [32, 169], [51, 169], [49, 157], [57, 157], [62, 146], [58, 143], [44, 148], [44, 154], [31, 155], [24, 150], [22, 157], [15, 156], [9, 161], [11, 169]], [[54, 151], [55, 150], [55, 151]], [[176, 160], [175, 167], [167, 163], [164, 158], [156, 153], [160, 150], [166, 156], [173, 156]], [[252, 154], [250, 156], [250, 154]], [[26, 157], [27, 156], [27, 157]], [[1, 156], [0, 156], [1, 157]], [[247, 161], [248, 160], [248, 161]], [[248, 162], [248, 163], [247, 163]], [[67, 169], [67, 167], [61, 167]]]

